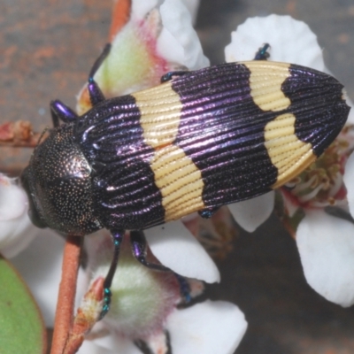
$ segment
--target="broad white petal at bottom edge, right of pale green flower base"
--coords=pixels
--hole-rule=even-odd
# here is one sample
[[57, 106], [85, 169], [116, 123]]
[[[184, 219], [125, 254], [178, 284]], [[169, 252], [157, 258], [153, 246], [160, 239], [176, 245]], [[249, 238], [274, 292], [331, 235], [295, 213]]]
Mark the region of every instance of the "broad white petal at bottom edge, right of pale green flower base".
[[235, 304], [205, 301], [174, 311], [166, 327], [173, 354], [232, 354], [246, 332], [247, 322]]

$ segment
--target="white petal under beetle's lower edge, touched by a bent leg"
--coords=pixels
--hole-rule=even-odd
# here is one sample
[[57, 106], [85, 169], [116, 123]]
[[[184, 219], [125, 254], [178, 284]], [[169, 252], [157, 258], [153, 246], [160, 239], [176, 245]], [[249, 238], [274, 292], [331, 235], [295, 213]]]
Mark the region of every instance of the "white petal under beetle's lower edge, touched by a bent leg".
[[145, 230], [152, 253], [175, 273], [207, 282], [220, 280], [212, 258], [181, 221]]

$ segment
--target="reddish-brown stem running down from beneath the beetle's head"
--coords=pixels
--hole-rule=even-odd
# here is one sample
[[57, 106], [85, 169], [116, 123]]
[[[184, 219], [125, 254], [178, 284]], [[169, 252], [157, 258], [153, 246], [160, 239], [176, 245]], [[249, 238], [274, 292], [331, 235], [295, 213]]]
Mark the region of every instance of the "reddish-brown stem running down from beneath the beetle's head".
[[50, 354], [62, 354], [73, 326], [76, 281], [83, 237], [68, 235], [65, 242], [53, 341]]

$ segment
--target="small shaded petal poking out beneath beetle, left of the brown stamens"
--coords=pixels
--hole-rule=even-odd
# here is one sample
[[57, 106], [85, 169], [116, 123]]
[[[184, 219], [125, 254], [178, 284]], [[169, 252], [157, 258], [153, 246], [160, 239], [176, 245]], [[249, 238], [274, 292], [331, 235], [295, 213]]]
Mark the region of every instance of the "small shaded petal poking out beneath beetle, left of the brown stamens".
[[251, 233], [262, 225], [273, 212], [274, 191], [227, 206], [240, 227]]

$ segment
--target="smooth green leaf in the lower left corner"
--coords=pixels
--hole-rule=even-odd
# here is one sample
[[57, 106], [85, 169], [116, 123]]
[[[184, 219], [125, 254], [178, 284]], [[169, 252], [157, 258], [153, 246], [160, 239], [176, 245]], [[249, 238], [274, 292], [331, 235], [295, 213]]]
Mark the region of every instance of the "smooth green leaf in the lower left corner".
[[46, 346], [42, 315], [33, 296], [0, 256], [0, 353], [42, 354]]

